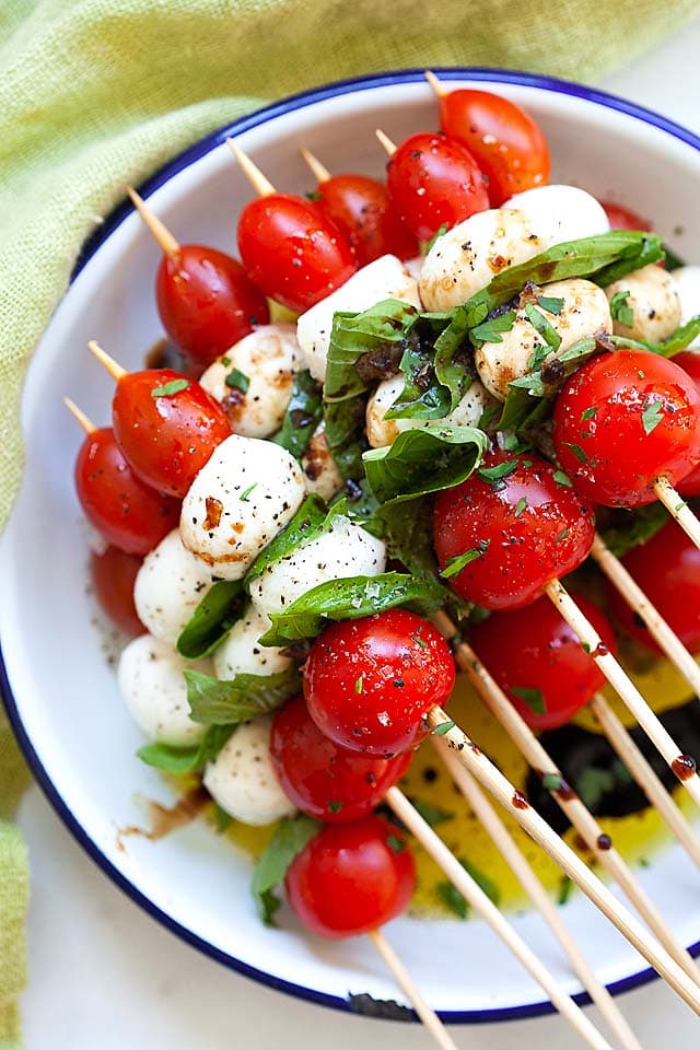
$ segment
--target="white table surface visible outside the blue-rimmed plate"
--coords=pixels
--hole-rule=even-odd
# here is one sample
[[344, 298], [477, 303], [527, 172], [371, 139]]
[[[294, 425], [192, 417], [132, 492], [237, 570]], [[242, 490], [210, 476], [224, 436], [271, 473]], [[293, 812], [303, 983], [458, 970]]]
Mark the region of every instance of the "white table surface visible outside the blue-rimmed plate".
[[[600, 86], [700, 131], [700, 20]], [[299, 1002], [205, 958], [116, 889], [79, 849], [38, 789], [20, 824], [32, 858], [27, 1050], [424, 1050], [419, 1026]], [[439, 960], [436, 960], [438, 965]], [[645, 1050], [698, 1045], [698, 1022], [661, 981], [618, 1000]], [[582, 1043], [558, 1017], [452, 1029], [471, 1050]]]

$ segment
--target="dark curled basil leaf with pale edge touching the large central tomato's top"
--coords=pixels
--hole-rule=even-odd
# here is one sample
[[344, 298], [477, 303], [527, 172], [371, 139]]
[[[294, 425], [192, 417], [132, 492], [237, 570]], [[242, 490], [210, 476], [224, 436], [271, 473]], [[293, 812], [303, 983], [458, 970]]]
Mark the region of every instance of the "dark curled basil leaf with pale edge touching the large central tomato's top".
[[380, 503], [413, 500], [459, 485], [481, 462], [488, 438], [474, 427], [433, 424], [406, 430], [394, 444], [371, 448], [362, 462]]

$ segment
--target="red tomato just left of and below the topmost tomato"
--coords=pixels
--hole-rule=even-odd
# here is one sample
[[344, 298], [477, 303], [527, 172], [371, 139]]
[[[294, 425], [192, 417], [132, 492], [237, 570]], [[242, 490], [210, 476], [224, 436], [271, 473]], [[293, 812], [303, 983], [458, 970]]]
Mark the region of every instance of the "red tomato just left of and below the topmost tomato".
[[386, 172], [389, 201], [419, 241], [489, 207], [479, 165], [466, 147], [444, 135], [412, 135], [397, 148]]

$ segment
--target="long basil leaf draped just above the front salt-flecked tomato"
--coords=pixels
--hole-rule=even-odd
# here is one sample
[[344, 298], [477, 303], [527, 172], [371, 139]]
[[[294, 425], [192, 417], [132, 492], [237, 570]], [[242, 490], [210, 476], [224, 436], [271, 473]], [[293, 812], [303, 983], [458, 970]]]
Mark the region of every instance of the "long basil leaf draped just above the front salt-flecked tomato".
[[436, 581], [408, 573], [383, 572], [376, 576], [327, 580], [273, 612], [272, 626], [260, 639], [262, 645], [291, 645], [319, 634], [326, 620], [357, 620], [401, 606], [430, 616], [443, 602]]

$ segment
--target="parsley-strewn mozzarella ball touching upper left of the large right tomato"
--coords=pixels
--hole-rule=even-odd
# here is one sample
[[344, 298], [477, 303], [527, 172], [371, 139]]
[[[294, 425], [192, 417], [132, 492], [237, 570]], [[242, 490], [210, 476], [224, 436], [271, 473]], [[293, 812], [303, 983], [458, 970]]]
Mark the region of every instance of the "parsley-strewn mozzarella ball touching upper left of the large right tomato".
[[[592, 281], [582, 278], [552, 281], [551, 284], [542, 285], [540, 295], [563, 299], [559, 314], [550, 314], [536, 306], [561, 338], [559, 348], [548, 353], [542, 362], [563, 353], [580, 339], [586, 339], [599, 331], [609, 332], [611, 329], [606, 294]], [[517, 312], [511, 330], [500, 335], [502, 342], [485, 342], [475, 351], [474, 360], [486, 388], [500, 401], [504, 401], [509, 383], [530, 371], [533, 354], [546, 343], [524, 310]]]

